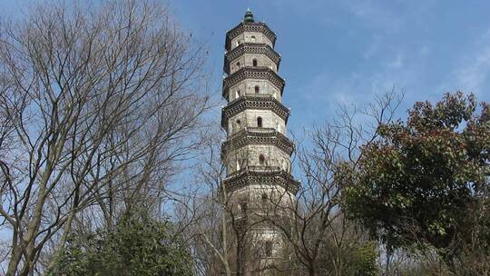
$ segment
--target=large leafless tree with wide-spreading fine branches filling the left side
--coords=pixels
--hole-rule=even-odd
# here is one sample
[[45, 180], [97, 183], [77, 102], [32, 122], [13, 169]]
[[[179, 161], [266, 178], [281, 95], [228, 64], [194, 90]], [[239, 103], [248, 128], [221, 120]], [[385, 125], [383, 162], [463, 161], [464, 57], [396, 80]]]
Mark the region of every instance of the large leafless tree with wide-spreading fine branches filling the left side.
[[0, 35], [6, 275], [27, 275], [88, 207], [108, 226], [134, 202], [155, 210], [209, 100], [201, 48], [150, 1], [37, 7]]

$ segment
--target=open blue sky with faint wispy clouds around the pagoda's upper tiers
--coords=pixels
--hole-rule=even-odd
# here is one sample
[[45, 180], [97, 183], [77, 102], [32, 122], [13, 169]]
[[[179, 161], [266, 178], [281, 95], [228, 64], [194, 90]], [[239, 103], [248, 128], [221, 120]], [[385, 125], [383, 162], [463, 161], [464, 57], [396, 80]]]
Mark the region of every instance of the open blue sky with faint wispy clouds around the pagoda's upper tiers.
[[[0, 0], [5, 14], [33, 1]], [[363, 105], [395, 87], [416, 101], [473, 92], [490, 102], [489, 1], [169, 0], [181, 27], [209, 50], [211, 93], [220, 94], [224, 34], [247, 7], [278, 34], [289, 130]], [[218, 112], [217, 112], [218, 113]], [[217, 114], [219, 118], [219, 114]]]

